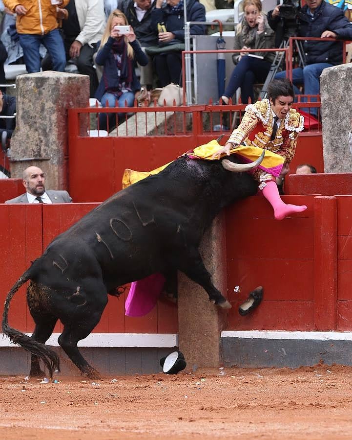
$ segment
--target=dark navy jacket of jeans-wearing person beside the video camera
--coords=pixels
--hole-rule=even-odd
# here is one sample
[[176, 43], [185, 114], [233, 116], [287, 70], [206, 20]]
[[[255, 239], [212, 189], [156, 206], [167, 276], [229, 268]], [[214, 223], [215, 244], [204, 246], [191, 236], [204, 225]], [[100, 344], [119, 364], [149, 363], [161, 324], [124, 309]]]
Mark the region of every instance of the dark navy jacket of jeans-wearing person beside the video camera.
[[[330, 30], [341, 40], [352, 40], [352, 24], [345, 17], [342, 9], [332, 6], [326, 1], [314, 11], [311, 18], [307, 14], [308, 6], [304, 6], [298, 13], [297, 35], [299, 37], [320, 37], [325, 30]], [[268, 13], [270, 27], [276, 28], [282, 24], [279, 17], [272, 18]], [[306, 64], [330, 63], [337, 65], [342, 63], [342, 43], [327, 41], [307, 41], [303, 42], [303, 49], [306, 56]]]

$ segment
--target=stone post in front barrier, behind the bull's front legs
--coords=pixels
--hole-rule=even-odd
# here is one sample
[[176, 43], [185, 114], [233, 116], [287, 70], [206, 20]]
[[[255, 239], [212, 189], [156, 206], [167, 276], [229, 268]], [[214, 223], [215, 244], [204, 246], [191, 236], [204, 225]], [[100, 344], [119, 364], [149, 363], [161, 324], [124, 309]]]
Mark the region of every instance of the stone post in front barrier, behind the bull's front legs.
[[[215, 218], [206, 231], [201, 254], [214, 285], [226, 296], [225, 214]], [[179, 349], [185, 355], [187, 369], [219, 367], [220, 333], [227, 311], [209, 301], [207, 292], [184, 274], [178, 280]]]

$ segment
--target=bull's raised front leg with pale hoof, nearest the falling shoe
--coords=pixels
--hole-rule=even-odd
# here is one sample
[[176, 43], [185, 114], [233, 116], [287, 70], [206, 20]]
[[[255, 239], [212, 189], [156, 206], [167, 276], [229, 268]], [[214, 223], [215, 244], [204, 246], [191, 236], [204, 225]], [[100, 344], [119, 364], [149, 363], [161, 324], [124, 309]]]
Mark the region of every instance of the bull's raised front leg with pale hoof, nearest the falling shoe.
[[228, 300], [222, 296], [220, 291], [211, 281], [211, 276], [204, 266], [198, 250], [194, 250], [183, 259], [180, 270], [190, 279], [200, 284], [209, 295], [209, 300], [223, 308], [231, 308]]

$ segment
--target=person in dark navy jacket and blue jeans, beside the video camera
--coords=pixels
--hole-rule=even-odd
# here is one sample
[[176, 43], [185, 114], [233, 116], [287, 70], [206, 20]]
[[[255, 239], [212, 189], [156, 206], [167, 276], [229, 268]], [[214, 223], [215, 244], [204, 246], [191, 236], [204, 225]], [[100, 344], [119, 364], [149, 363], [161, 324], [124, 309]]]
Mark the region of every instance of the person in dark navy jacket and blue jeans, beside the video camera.
[[[269, 11], [268, 22], [276, 31], [282, 19], [280, 5]], [[299, 37], [334, 38], [335, 40], [351, 40], [352, 24], [345, 17], [342, 9], [332, 6], [324, 0], [306, 0], [306, 5], [298, 13]], [[342, 63], [342, 42], [338, 41], [307, 41], [303, 43], [306, 66], [292, 70], [292, 82], [295, 94], [301, 93], [297, 88], [304, 85], [305, 94], [319, 94], [319, 77], [328, 67]], [[285, 78], [286, 71], [279, 72], [275, 78]], [[312, 98], [311, 101], [316, 101]], [[311, 107], [312, 115], [317, 116], [318, 109]]]

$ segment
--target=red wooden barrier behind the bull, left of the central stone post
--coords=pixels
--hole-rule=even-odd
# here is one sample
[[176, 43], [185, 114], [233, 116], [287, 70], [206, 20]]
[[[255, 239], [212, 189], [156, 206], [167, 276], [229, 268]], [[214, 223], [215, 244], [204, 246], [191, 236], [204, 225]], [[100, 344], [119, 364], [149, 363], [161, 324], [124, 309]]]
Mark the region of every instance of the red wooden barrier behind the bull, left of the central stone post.
[[[47, 244], [65, 231], [96, 204], [0, 205], [0, 239], [2, 261], [0, 277], [0, 314], [7, 292], [15, 281], [39, 257]], [[128, 290], [126, 291], [128, 293]], [[109, 296], [101, 322], [94, 332], [112, 333], [177, 333], [177, 308], [159, 301], [157, 307], [143, 318], [124, 316], [122, 298]], [[34, 323], [25, 300], [25, 287], [11, 301], [9, 323], [21, 331], [32, 331]], [[54, 331], [59, 332], [62, 324]]]

